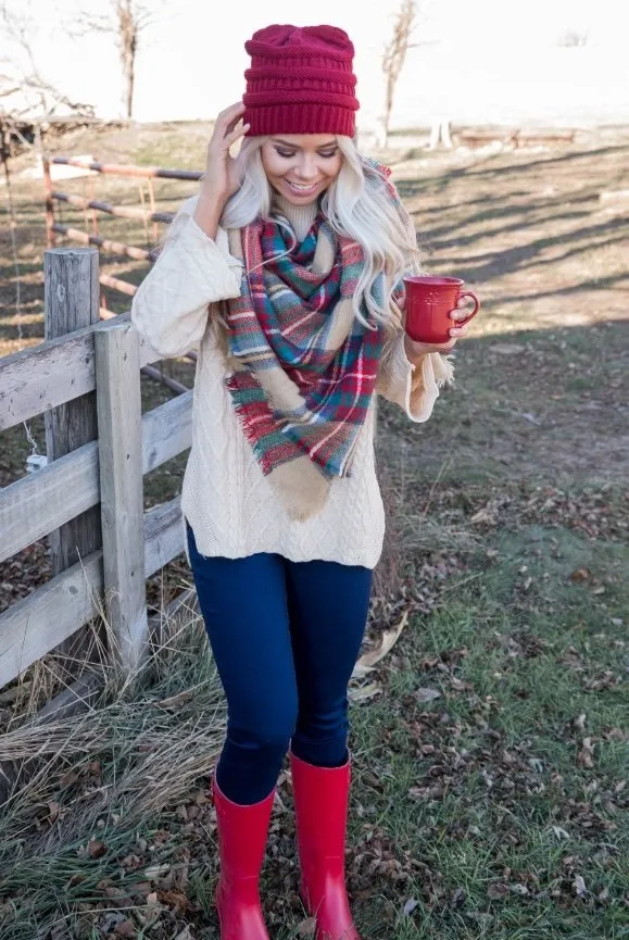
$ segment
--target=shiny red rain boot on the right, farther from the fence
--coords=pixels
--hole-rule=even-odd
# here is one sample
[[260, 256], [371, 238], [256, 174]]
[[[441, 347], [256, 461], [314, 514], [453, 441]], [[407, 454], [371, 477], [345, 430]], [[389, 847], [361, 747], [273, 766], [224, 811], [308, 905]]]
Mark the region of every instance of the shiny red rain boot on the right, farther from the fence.
[[301, 895], [316, 918], [316, 940], [360, 940], [345, 890], [350, 761], [315, 767], [291, 752]]

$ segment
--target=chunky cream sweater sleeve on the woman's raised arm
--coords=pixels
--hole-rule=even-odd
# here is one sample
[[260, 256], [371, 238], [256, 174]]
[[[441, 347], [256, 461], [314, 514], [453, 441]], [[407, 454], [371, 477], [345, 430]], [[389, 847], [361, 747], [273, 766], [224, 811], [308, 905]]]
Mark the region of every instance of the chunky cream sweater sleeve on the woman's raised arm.
[[229, 253], [227, 234], [219, 228], [210, 238], [192, 218], [196, 204], [197, 197], [187, 200], [173, 220], [131, 304], [131, 323], [164, 359], [199, 342], [209, 304], [240, 296], [242, 266]]

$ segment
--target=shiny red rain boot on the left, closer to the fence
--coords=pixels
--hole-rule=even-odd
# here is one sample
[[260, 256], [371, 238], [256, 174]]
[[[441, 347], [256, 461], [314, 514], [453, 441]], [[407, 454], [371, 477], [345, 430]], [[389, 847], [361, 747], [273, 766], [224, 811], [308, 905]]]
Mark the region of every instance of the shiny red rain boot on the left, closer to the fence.
[[260, 906], [260, 870], [275, 790], [260, 803], [232, 803], [212, 781], [221, 855], [216, 906], [221, 940], [268, 940]]

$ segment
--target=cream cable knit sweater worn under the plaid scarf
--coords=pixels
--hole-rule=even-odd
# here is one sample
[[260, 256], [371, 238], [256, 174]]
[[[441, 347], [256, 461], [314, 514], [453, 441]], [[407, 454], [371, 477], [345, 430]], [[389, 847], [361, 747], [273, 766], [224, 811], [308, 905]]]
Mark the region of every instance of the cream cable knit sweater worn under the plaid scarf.
[[[382, 550], [385, 513], [374, 461], [376, 396], [356, 444], [351, 477], [335, 479], [323, 512], [291, 521], [264, 478], [238, 424], [225, 389], [225, 364], [207, 329], [207, 305], [238, 297], [241, 265], [229, 254], [227, 235], [210, 238], [194, 222], [193, 197], [168, 229], [164, 249], [141, 283], [131, 321], [164, 359], [198, 347], [192, 411], [192, 449], [181, 492], [187, 518], [202, 555], [244, 557], [278, 553], [375, 567]], [[278, 200], [299, 239], [307, 233], [316, 205], [295, 209]], [[413, 422], [430, 416], [451, 366], [438, 354], [415, 368], [404, 352], [403, 334], [382, 359], [377, 390]], [[185, 539], [185, 544], [186, 539]], [[187, 553], [187, 547], [186, 547]]]

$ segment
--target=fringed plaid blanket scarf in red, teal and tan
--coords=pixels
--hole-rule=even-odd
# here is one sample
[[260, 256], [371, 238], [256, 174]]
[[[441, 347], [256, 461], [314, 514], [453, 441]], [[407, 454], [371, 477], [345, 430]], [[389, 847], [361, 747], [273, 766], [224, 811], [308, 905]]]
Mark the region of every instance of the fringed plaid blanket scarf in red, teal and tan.
[[[290, 251], [289, 237], [274, 221], [229, 231], [243, 277], [225, 315], [226, 386], [263, 473], [289, 515], [306, 519], [350, 475], [385, 334], [353, 313], [360, 246], [322, 213]], [[374, 291], [381, 300], [382, 277]]]

